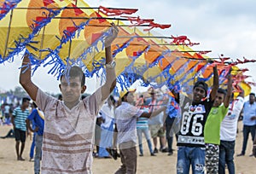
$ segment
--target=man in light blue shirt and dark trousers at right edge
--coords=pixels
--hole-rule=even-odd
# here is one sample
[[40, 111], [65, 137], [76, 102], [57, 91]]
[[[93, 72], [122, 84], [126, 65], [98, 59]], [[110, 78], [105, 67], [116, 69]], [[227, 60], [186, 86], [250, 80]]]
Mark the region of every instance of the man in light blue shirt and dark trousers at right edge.
[[[242, 142], [242, 149], [241, 154], [237, 154], [237, 156], [244, 156], [246, 149], [247, 149], [247, 141], [249, 133], [252, 135], [252, 139], [254, 140], [255, 136], [255, 126], [256, 126], [256, 102], [255, 102], [255, 94], [250, 93], [249, 101], [245, 102], [243, 105], [243, 142]], [[250, 154], [253, 156], [253, 154]]]

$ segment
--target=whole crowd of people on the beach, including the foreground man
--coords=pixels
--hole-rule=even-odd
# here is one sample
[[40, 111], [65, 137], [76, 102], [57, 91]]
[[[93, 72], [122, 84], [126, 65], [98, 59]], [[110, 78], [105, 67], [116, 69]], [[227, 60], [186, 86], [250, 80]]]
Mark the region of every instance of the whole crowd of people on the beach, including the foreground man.
[[[116, 26], [111, 31], [105, 40], [106, 82], [90, 96], [81, 98], [86, 90], [85, 77], [76, 66], [67, 67], [68, 71], [61, 74], [61, 98], [44, 93], [32, 82], [29, 54], [25, 54], [20, 84], [30, 98], [23, 98], [21, 105], [6, 115], [6, 124], [14, 128], [17, 160], [24, 160], [26, 131], [31, 131], [36, 147], [35, 173], [91, 173], [96, 147], [95, 157], [120, 159], [115, 173], [132, 174], [137, 172], [137, 142], [139, 156], [144, 155], [143, 135], [152, 158], [159, 151], [172, 155], [175, 136], [177, 173], [224, 173], [225, 165], [230, 173], [236, 173], [234, 148], [242, 107], [244, 139], [237, 156], [245, 155], [250, 133], [254, 144], [251, 156], [256, 157], [255, 94], [251, 93], [249, 102], [243, 103], [240, 89], [235, 99], [231, 75], [227, 77], [227, 90], [219, 88], [215, 66], [213, 85], [208, 87], [199, 80], [189, 95], [169, 89], [172, 96], [166, 96], [150, 88], [148, 100], [143, 96], [135, 99], [136, 90], [124, 89], [114, 100], [110, 96], [116, 86], [111, 44], [119, 31]], [[34, 107], [29, 112], [31, 100]]]

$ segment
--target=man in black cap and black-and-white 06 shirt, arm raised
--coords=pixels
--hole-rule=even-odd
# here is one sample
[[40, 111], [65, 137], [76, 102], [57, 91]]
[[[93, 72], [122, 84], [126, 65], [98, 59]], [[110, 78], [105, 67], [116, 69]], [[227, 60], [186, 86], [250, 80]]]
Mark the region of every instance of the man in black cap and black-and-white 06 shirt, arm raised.
[[213, 67], [213, 86], [209, 98], [207, 90], [208, 85], [204, 81], [198, 81], [193, 88], [192, 100], [187, 96], [175, 94], [182, 110], [181, 129], [177, 138], [177, 173], [189, 173], [190, 165], [194, 174], [204, 173], [203, 131], [218, 90], [217, 67]]

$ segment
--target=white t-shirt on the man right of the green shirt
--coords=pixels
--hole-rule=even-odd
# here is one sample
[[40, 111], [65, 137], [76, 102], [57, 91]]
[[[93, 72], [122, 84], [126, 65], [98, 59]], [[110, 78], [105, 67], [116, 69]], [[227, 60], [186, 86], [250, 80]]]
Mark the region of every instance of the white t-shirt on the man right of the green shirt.
[[244, 99], [238, 96], [230, 103], [229, 111], [220, 125], [220, 140], [235, 141], [237, 130], [237, 119], [241, 113]]

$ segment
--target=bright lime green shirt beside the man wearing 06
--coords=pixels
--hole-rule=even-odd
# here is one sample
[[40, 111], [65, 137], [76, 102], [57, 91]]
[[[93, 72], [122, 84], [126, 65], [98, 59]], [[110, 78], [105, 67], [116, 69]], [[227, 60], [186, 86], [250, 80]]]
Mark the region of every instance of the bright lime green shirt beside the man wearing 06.
[[205, 143], [218, 144], [220, 143], [220, 124], [228, 113], [229, 107], [224, 107], [222, 104], [219, 107], [212, 107], [204, 128]]

